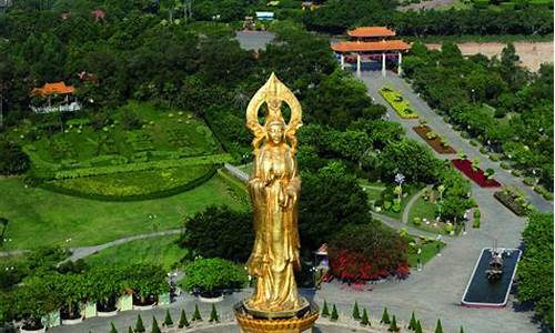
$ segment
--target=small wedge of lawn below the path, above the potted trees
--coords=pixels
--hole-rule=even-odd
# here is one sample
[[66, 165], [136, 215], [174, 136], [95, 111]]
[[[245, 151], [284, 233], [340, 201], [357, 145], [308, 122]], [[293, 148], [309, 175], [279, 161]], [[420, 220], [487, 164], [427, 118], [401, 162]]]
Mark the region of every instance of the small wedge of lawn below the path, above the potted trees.
[[180, 249], [175, 244], [178, 239], [179, 235], [171, 235], [132, 241], [92, 254], [85, 258], [85, 262], [92, 266], [154, 263], [161, 264], [164, 270], [170, 271], [186, 254], [185, 249]]

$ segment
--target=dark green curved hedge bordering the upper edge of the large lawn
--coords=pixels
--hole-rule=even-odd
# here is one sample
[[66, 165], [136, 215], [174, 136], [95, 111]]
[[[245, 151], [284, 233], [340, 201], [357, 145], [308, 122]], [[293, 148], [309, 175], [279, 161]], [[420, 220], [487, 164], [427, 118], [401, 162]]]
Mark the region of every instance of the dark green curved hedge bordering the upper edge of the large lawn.
[[186, 183], [183, 183], [181, 185], [171, 189], [164, 189], [144, 194], [110, 195], [110, 194], [99, 194], [99, 193], [87, 193], [73, 189], [59, 186], [56, 184], [56, 181], [44, 182], [39, 184], [39, 186], [60, 194], [72, 195], [83, 199], [99, 200], [99, 201], [142, 201], [142, 200], [167, 198], [185, 191], [190, 191], [210, 180], [215, 174], [216, 170], [218, 165], [211, 165], [210, 168], [208, 168], [205, 173]]

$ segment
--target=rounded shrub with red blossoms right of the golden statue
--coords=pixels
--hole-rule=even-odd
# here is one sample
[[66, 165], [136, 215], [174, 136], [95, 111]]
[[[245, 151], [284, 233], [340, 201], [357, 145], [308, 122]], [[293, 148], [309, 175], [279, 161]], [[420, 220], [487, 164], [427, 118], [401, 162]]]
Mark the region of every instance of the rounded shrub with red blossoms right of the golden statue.
[[406, 241], [377, 223], [346, 225], [330, 242], [330, 266], [342, 280], [406, 278]]

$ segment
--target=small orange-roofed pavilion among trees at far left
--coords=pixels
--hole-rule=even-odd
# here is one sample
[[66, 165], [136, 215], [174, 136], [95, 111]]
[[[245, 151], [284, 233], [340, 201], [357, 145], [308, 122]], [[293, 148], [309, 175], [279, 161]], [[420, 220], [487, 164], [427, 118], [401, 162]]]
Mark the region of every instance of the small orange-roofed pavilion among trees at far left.
[[36, 113], [79, 111], [81, 104], [77, 98], [72, 97], [74, 92], [73, 85], [65, 85], [63, 81], [44, 83], [44, 85], [31, 91], [33, 105], [30, 108]]

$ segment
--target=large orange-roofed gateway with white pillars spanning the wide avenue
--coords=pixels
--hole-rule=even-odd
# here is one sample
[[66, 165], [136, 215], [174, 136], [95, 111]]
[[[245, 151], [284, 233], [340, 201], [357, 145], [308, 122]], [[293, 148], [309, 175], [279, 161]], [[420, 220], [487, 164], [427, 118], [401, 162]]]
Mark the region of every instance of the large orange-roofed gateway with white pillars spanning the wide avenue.
[[362, 62], [382, 60], [382, 75], [385, 77], [386, 59], [396, 60], [397, 73], [401, 73], [403, 52], [411, 48], [400, 39], [394, 39], [395, 31], [387, 27], [360, 27], [349, 30], [351, 41], [332, 43], [332, 50], [339, 56], [341, 68], [345, 62], [356, 62], [356, 74], [361, 75]]

